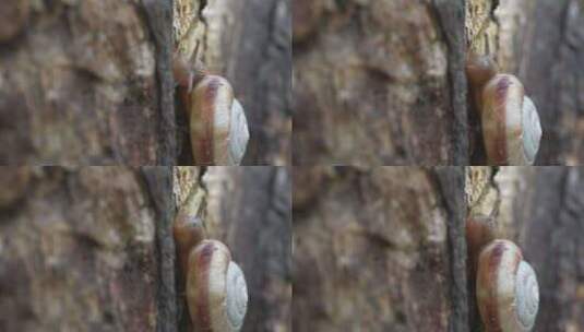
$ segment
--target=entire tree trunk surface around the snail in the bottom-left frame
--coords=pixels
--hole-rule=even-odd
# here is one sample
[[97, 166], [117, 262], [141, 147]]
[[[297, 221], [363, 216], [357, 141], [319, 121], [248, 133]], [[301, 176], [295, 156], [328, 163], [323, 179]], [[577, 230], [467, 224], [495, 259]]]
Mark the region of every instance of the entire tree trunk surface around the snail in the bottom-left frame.
[[[172, 176], [174, 174], [174, 176]], [[290, 331], [290, 175], [279, 167], [3, 168], [1, 331], [192, 331], [175, 205], [199, 190], [246, 275], [242, 331]], [[178, 296], [177, 296], [178, 294]]]

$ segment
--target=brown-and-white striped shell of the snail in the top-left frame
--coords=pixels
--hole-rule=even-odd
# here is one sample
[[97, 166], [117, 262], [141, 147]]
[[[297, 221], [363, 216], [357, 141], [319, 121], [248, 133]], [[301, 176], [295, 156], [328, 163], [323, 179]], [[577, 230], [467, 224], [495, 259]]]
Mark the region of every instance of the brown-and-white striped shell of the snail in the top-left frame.
[[206, 75], [190, 97], [190, 130], [198, 165], [239, 165], [249, 140], [241, 104], [227, 80]]

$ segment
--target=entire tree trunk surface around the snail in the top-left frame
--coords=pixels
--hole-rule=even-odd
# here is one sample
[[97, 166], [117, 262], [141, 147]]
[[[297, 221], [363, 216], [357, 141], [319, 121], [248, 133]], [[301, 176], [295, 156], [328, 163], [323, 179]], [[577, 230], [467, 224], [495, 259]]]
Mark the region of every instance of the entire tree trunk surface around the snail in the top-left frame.
[[251, 140], [243, 163], [289, 164], [289, 7], [2, 1], [0, 164], [193, 164], [170, 70], [184, 35], [195, 42], [189, 55], [226, 76], [246, 109]]

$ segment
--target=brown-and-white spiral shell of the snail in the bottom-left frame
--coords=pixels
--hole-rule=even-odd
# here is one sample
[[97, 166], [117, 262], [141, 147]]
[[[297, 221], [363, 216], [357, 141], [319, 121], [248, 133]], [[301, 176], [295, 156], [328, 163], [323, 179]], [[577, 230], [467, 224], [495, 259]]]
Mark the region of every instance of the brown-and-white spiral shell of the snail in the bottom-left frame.
[[187, 299], [196, 331], [239, 331], [248, 308], [241, 269], [227, 247], [203, 240], [189, 257]]

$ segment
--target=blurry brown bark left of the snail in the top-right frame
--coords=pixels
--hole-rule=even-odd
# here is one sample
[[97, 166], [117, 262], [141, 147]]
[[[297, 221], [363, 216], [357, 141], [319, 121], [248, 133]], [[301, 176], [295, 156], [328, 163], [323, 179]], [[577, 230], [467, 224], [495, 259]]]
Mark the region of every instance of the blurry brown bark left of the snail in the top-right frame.
[[465, 165], [464, 1], [294, 2], [295, 165]]

